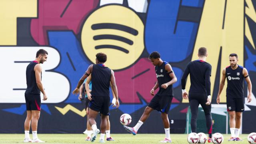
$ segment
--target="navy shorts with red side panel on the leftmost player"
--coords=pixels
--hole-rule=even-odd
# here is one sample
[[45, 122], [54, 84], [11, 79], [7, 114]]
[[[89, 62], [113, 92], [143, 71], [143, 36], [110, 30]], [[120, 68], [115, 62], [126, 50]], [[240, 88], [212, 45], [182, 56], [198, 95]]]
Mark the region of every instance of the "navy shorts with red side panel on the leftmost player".
[[41, 111], [41, 97], [40, 94], [25, 94], [27, 110]]

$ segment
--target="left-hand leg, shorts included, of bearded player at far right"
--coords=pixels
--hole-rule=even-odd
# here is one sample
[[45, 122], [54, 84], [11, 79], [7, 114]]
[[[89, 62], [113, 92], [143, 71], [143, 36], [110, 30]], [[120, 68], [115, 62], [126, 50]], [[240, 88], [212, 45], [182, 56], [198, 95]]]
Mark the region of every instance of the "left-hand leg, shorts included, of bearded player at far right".
[[227, 111], [229, 115], [229, 126], [230, 126], [230, 133], [231, 137], [228, 141], [235, 141], [236, 136], [235, 136], [235, 126], [236, 126], [236, 101], [234, 98], [231, 97], [226, 97], [227, 99]]

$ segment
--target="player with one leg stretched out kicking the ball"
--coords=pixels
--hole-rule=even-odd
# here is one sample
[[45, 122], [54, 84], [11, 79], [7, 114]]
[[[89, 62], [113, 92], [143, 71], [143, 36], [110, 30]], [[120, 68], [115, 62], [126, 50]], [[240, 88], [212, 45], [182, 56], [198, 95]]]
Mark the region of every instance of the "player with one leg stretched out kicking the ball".
[[[168, 119], [168, 112], [174, 96], [172, 84], [177, 82], [177, 78], [172, 71], [172, 67], [168, 62], [163, 61], [160, 58], [158, 52], [152, 52], [149, 56], [150, 61], [155, 66], [157, 82], [150, 91], [150, 94], [154, 96], [148, 106], [145, 108], [144, 113], [140, 117], [138, 123], [133, 127], [124, 126], [124, 128], [136, 135], [140, 126], [148, 119], [148, 116], [153, 110], [161, 112], [161, 118], [164, 123], [165, 139], [160, 142], [172, 142], [170, 138], [170, 123]], [[158, 93], [155, 95], [154, 91], [159, 87]]]

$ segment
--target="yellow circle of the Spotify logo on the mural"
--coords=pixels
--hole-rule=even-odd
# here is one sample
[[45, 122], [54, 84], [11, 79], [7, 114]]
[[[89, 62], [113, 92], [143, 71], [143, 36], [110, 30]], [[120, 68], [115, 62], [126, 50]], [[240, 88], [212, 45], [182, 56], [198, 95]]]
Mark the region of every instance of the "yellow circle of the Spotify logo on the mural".
[[[93, 24], [100, 23], [112, 23], [128, 26], [137, 30], [138, 35], [134, 36], [128, 32], [115, 29], [92, 30]], [[130, 45], [119, 40], [93, 39], [94, 36], [103, 34], [122, 36], [132, 40], [133, 44]], [[138, 15], [129, 8], [117, 5], [104, 6], [93, 12], [84, 23], [81, 34], [81, 42], [86, 56], [92, 62], [95, 63], [95, 55], [98, 52], [103, 52], [108, 56], [106, 66], [113, 70], [119, 70], [133, 64], [142, 54], [144, 50], [144, 25]], [[129, 52], [125, 53], [121, 50], [108, 47], [96, 50], [95, 46], [99, 45], [119, 46], [125, 50], [128, 50]]]

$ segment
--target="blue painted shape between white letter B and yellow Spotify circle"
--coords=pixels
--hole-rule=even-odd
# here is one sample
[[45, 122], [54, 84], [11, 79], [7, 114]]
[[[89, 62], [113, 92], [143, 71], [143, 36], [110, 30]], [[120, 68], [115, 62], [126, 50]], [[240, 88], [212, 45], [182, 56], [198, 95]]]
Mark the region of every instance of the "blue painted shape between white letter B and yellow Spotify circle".
[[[50, 46], [57, 48], [61, 56], [60, 64], [53, 71], [63, 74], [70, 82], [70, 94], [65, 102], [80, 103], [77, 96], [74, 96], [71, 91], [76, 88], [78, 81], [91, 63], [85, 58], [80, 43], [73, 32], [48, 32], [48, 37]], [[67, 53], [76, 70], [72, 67]]]

